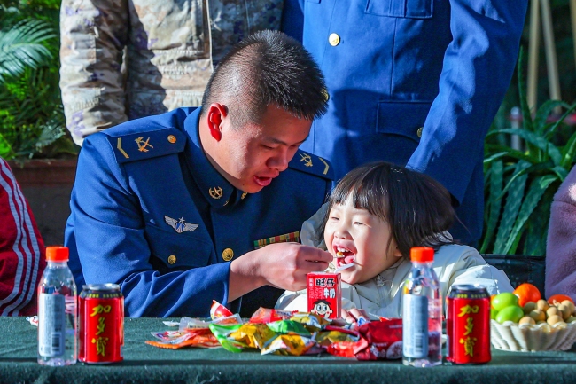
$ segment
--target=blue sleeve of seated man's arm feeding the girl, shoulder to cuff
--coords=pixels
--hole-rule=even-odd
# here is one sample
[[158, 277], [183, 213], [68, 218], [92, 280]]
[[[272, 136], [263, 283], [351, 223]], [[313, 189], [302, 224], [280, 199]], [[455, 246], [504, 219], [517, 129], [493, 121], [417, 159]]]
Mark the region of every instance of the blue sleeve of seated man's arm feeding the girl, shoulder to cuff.
[[230, 263], [164, 275], [153, 269], [145, 202], [134, 188], [104, 134], [84, 141], [69, 223], [86, 283], [120, 284], [128, 317], [206, 317], [212, 300], [228, 304]]

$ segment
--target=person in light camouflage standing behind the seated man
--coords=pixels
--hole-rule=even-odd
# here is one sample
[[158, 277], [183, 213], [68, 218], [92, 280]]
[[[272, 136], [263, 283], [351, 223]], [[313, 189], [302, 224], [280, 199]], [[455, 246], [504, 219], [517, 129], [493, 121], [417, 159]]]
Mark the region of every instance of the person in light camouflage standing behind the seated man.
[[74, 142], [121, 122], [199, 106], [213, 67], [282, 0], [63, 0], [60, 88]]

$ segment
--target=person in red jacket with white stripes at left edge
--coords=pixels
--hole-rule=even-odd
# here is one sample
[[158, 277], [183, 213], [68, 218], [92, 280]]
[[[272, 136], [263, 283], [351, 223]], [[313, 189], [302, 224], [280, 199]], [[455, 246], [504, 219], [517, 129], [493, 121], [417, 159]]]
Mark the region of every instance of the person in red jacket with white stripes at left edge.
[[38, 313], [43, 239], [8, 162], [0, 158], [0, 316]]

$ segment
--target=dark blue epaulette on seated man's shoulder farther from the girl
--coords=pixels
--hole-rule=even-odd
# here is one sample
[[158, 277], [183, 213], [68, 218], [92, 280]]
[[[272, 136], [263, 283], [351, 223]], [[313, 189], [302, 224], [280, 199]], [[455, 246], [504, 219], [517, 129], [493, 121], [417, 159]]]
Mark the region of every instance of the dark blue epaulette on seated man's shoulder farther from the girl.
[[107, 139], [119, 163], [183, 152], [186, 144], [186, 135], [175, 128], [109, 136]]

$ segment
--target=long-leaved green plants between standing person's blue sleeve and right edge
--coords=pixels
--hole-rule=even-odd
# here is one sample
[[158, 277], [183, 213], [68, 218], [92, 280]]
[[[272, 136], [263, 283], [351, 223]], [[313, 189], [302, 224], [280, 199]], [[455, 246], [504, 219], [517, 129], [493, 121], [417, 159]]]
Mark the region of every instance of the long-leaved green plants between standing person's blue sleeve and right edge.
[[481, 253], [545, 255], [550, 205], [575, 163], [576, 63], [569, 0], [551, 0], [550, 5], [564, 101], [549, 99], [545, 48], [541, 41], [537, 103], [532, 110], [526, 104], [525, 58], [531, 22], [528, 11], [518, 67], [486, 137]]

